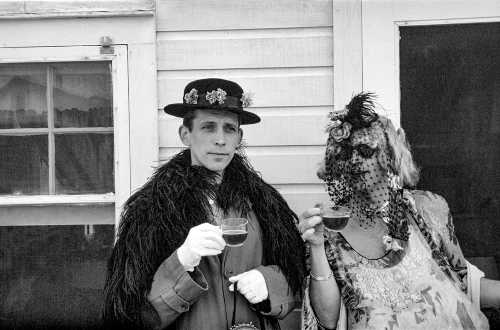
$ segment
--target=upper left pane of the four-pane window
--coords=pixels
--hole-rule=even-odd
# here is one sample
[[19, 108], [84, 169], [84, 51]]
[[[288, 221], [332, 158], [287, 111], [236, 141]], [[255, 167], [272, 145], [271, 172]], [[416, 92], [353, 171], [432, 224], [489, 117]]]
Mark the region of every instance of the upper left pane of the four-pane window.
[[0, 64], [0, 129], [47, 127], [46, 80], [39, 65]]

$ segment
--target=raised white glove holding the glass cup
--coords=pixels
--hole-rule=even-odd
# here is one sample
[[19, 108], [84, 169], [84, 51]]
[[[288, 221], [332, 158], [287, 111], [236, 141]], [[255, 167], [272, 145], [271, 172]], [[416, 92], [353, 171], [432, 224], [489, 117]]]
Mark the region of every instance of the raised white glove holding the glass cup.
[[219, 227], [202, 223], [192, 227], [186, 240], [177, 249], [177, 257], [184, 269], [192, 271], [202, 256], [222, 253], [225, 241]]

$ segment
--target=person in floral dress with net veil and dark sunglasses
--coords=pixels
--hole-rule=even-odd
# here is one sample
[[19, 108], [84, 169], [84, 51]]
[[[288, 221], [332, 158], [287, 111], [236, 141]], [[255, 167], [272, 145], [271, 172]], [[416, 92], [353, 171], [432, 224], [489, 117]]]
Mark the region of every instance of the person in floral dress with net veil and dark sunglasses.
[[500, 305], [500, 282], [478, 280], [480, 305], [468, 297], [448, 205], [401, 188], [416, 183], [418, 170], [404, 132], [377, 114], [374, 96], [357, 94], [328, 115], [317, 174], [332, 203], [352, 212], [341, 231], [324, 228], [321, 202], [299, 216], [310, 270], [302, 329], [487, 329], [479, 306]]

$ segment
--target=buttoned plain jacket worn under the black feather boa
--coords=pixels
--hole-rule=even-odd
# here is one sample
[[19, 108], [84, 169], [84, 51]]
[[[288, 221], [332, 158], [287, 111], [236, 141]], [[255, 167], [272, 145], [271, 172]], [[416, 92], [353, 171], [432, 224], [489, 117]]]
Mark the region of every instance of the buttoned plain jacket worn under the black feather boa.
[[[267, 301], [252, 305], [236, 294], [235, 324], [252, 322], [261, 330], [279, 329], [282, 319], [294, 308], [294, 296], [276, 265], [262, 265], [260, 227], [249, 213], [248, 235], [241, 246], [226, 246], [219, 255], [203, 256], [193, 272], [187, 272], [172, 253], [154, 274], [148, 299], [161, 319], [160, 328], [229, 329], [234, 294], [227, 278], [256, 269], [265, 279]], [[259, 319], [259, 315], [260, 319]]]

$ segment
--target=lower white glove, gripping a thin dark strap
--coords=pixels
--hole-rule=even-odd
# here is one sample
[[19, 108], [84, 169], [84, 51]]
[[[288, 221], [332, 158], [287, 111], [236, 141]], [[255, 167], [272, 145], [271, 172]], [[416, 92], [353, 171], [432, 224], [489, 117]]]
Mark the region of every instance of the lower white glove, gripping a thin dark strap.
[[[229, 277], [231, 283], [238, 282], [238, 291], [251, 303], [267, 299], [267, 285], [264, 275], [256, 269], [245, 271], [239, 275]], [[234, 290], [234, 284], [229, 285], [229, 291]]]

